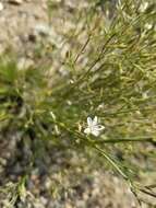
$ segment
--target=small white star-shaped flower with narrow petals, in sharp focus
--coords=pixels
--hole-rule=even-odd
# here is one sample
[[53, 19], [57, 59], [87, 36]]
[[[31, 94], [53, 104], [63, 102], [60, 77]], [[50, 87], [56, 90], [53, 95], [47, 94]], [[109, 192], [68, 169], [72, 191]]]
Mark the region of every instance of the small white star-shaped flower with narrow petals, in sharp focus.
[[105, 129], [105, 126], [98, 125], [97, 116], [92, 119], [91, 117], [87, 117], [87, 128], [84, 129], [84, 132], [86, 135], [94, 135], [95, 137], [98, 137], [100, 135], [100, 131]]

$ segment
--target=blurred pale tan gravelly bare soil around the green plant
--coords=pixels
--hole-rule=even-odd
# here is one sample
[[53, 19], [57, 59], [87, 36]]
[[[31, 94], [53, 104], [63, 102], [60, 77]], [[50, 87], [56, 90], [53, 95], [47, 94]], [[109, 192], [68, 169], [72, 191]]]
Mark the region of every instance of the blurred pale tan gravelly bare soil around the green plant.
[[[1, 0], [0, 11], [0, 54], [10, 50], [16, 53], [19, 60], [28, 59], [28, 65], [34, 63], [34, 49], [36, 47], [36, 31], [47, 35], [49, 25], [48, 8], [46, 0], [23, 0], [21, 3], [13, 3], [9, 0]], [[57, 0], [56, 0], [57, 2]], [[58, 3], [61, 2], [58, 0]], [[55, 33], [60, 36], [58, 26], [62, 27], [62, 19], [69, 18], [71, 23], [71, 10], [77, 7], [76, 1], [63, 1], [63, 13], [53, 18]], [[38, 26], [37, 26], [38, 25]], [[40, 26], [41, 25], [41, 26]], [[70, 24], [71, 26], [71, 24]], [[43, 30], [43, 32], [40, 31]], [[45, 30], [45, 31], [44, 31]], [[36, 36], [35, 36], [36, 35]], [[52, 36], [52, 35], [51, 35]], [[43, 37], [44, 38], [44, 37]], [[56, 37], [51, 37], [56, 38]], [[57, 39], [59, 42], [59, 39]], [[11, 137], [11, 136], [10, 136]], [[0, 183], [4, 185], [9, 181], [16, 181], [22, 175], [26, 165], [26, 154], [31, 150], [17, 149], [17, 136], [10, 138], [10, 141], [0, 143]], [[23, 151], [23, 152], [20, 152]], [[25, 157], [23, 157], [25, 154]], [[56, 151], [55, 155], [47, 154], [45, 161], [37, 161], [31, 173], [31, 181], [27, 188], [35, 197], [19, 201], [15, 207], [32, 208], [139, 208], [133, 194], [128, 185], [118, 175], [104, 169], [82, 167], [87, 163], [83, 157], [63, 155], [63, 152]], [[77, 165], [80, 164], [80, 165]], [[60, 167], [61, 166], [61, 167]], [[63, 174], [62, 174], [63, 173]], [[58, 186], [58, 187], [56, 187]], [[56, 190], [53, 190], [56, 187]], [[0, 207], [5, 207], [0, 196]], [[7, 198], [5, 198], [7, 199]], [[143, 205], [143, 208], [151, 206]]]

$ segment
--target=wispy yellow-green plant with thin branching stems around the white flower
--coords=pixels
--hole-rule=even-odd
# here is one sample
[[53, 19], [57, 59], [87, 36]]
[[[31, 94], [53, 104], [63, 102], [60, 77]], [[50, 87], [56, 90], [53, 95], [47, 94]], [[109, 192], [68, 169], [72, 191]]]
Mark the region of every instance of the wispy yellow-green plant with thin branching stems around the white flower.
[[[156, 171], [156, 5], [143, 3], [119, 1], [111, 19], [110, 12], [104, 15], [103, 1], [75, 13], [83, 27], [65, 37], [72, 43], [60, 66], [65, 76], [50, 77], [44, 66], [19, 70], [15, 61], [1, 58], [1, 137], [28, 138], [24, 142], [35, 149], [31, 165], [47, 146], [86, 155], [97, 151], [135, 196], [141, 190], [155, 197], [137, 183], [142, 172]], [[88, 116], [105, 126], [98, 138], [84, 134]]]

